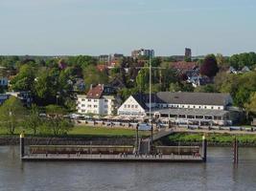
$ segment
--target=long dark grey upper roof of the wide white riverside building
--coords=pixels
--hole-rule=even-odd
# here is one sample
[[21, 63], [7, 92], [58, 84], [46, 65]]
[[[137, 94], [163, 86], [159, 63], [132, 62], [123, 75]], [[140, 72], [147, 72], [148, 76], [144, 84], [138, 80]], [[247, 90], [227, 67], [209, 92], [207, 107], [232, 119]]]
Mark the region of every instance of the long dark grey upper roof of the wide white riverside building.
[[171, 93], [160, 92], [156, 94], [159, 99], [173, 104], [196, 105], [225, 105], [225, 99], [229, 94], [220, 93]]

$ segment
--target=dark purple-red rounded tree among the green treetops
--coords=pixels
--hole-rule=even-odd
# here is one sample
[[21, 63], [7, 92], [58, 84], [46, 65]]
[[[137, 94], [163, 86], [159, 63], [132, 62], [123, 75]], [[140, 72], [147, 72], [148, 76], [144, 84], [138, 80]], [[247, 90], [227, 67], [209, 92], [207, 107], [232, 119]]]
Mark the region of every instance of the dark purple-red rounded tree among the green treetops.
[[214, 77], [219, 71], [217, 60], [214, 54], [209, 54], [204, 58], [203, 64], [200, 66], [200, 74], [208, 77]]

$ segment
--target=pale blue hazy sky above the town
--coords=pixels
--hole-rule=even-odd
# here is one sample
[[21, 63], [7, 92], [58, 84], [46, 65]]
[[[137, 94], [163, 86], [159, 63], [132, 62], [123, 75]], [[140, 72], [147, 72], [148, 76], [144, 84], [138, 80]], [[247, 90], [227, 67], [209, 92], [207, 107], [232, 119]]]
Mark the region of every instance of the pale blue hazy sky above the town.
[[0, 0], [0, 54], [256, 52], [255, 0]]

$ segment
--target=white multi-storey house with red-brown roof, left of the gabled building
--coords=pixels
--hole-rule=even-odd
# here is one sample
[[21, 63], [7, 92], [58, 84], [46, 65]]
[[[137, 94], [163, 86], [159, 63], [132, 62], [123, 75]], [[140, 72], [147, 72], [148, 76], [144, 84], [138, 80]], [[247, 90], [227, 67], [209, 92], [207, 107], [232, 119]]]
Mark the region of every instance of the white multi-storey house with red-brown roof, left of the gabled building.
[[119, 99], [114, 96], [112, 87], [98, 84], [91, 85], [87, 95], [78, 95], [77, 109], [79, 114], [114, 115]]

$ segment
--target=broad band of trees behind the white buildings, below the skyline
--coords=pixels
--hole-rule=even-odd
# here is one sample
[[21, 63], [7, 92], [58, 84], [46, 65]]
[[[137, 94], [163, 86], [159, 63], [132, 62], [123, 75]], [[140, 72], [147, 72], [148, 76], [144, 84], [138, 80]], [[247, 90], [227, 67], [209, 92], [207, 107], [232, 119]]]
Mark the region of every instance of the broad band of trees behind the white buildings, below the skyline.
[[[152, 92], [230, 93], [236, 106], [247, 114], [254, 113], [256, 53], [240, 53], [230, 57], [209, 54], [202, 59], [186, 59], [197, 62], [200, 75], [208, 76], [213, 81], [197, 88], [187, 83], [186, 75], [170, 67], [175, 61], [174, 57], [154, 57], [151, 60]], [[0, 69], [0, 74], [13, 75], [11, 90], [31, 91], [36, 105], [45, 107], [58, 104], [69, 112], [76, 110], [76, 94], [84, 94], [73, 91], [77, 78], [84, 80], [86, 91], [90, 84], [107, 84], [117, 79], [123, 84], [118, 89], [118, 95], [123, 100], [131, 94], [149, 93], [149, 58], [124, 57], [110, 70], [99, 70], [99, 64], [96, 57], [87, 55], [61, 58], [0, 56], [0, 66], [5, 67], [5, 70]], [[247, 66], [251, 72], [228, 74], [226, 71], [230, 66], [237, 70]]]

